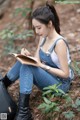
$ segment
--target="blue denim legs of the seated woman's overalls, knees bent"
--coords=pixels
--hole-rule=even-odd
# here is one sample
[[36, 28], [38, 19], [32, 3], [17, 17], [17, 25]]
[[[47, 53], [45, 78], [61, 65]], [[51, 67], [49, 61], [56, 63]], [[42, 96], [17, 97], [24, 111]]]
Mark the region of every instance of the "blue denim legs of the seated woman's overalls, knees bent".
[[64, 92], [67, 92], [70, 87], [69, 80], [58, 79], [57, 76], [51, 75], [42, 68], [24, 65], [18, 61], [7, 73], [7, 76], [11, 81], [19, 79], [20, 93], [25, 94], [31, 93], [33, 84], [42, 90], [49, 85], [62, 83], [59, 88]]

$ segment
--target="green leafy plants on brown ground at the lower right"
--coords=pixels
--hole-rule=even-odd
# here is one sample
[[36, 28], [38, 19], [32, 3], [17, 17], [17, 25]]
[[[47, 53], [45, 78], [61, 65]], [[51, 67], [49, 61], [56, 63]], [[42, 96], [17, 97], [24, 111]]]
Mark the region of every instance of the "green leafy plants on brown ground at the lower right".
[[80, 111], [80, 99], [72, 100], [69, 94], [59, 89], [60, 85], [52, 85], [43, 89], [43, 103], [38, 106], [50, 120], [64, 116], [67, 119], [75, 117], [75, 111]]

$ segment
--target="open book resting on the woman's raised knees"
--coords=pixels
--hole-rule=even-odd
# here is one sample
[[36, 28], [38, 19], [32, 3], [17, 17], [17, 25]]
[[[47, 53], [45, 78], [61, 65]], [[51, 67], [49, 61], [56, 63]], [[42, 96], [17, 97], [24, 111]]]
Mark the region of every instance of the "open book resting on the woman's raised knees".
[[39, 62], [38, 62], [37, 58], [35, 58], [35, 57], [26, 56], [26, 55], [22, 55], [22, 54], [16, 54], [16, 53], [10, 53], [10, 54], [13, 55], [22, 64], [39, 66]]

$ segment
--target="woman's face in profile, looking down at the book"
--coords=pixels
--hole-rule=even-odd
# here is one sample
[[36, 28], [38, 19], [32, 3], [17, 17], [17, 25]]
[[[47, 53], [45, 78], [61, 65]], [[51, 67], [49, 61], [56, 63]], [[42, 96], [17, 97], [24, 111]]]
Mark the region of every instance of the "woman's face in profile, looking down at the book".
[[48, 36], [49, 33], [49, 28], [47, 25], [40, 23], [38, 20], [33, 19], [32, 20], [32, 25], [35, 29], [35, 32], [37, 35], [41, 37]]

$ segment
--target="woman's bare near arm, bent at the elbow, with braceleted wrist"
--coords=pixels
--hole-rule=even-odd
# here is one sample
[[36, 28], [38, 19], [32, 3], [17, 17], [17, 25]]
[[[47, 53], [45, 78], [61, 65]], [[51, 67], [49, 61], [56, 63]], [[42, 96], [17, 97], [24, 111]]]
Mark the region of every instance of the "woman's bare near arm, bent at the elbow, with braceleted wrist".
[[[55, 52], [59, 58], [61, 69], [50, 67], [48, 72], [57, 75], [59, 77], [67, 78], [69, 76], [69, 67], [67, 60], [67, 46], [63, 40], [60, 40], [55, 47]], [[47, 65], [41, 63], [41, 68], [47, 69]]]

